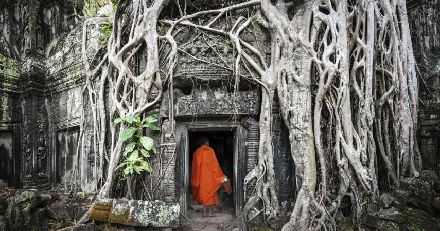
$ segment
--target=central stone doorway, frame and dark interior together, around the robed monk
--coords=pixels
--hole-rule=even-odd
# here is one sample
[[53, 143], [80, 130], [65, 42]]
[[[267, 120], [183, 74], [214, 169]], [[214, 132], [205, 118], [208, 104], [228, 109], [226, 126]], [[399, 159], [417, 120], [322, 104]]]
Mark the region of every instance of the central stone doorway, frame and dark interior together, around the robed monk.
[[[231, 198], [229, 201], [233, 213], [238, 216], [244, 205], [243, 181], [245, 175], [245, 141], [247, 130], [237, 121], [199, 120], [177, 121], [177, 160], [175, 166], [175, 200], [179, 202], [184, 215], [188, 213], [188, 205], [192, 201], [189, 178], [192, 155], [197, 148], [197, 137], [206, 134], [212, 139], [212, 146], [224, 174], [232, 180]], [[227, 153], [226, 153], [227, 152]], [[220, 163], [221, 162], [221, 163]], [[219, 199], [220, 193], [219, 195]], [[226, 194], [227, 195], [227, 194]], [[228, 195], [228, 196], [231, 196]]]

